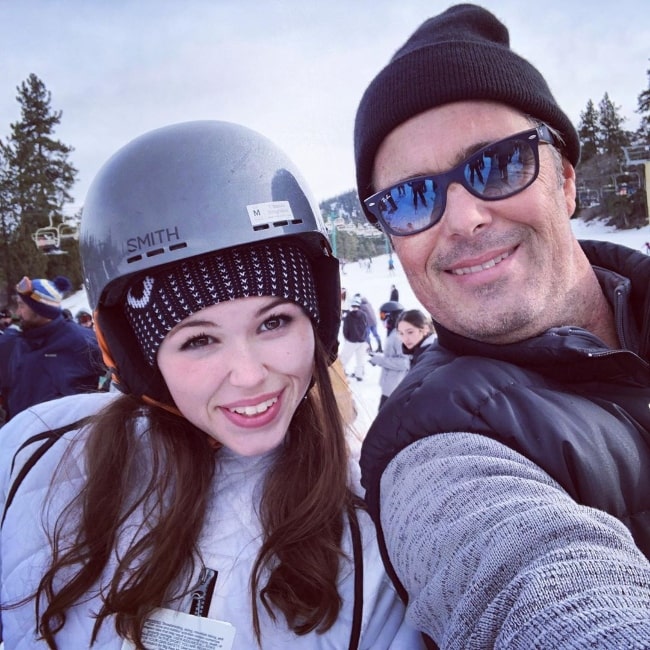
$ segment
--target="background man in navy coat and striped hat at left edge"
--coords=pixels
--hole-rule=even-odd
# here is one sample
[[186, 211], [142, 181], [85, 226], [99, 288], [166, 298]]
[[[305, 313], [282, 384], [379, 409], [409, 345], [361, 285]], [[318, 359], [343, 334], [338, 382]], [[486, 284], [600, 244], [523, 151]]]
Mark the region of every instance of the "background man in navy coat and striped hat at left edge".
[[98, 388], [105, 368], [97, 339], [62, 315], [61, 300], [70, 287], [62, 276], [53, 281], [24, 277], [16, 286], [22, 332], [0, 340], [7, 420], [33, 404]]

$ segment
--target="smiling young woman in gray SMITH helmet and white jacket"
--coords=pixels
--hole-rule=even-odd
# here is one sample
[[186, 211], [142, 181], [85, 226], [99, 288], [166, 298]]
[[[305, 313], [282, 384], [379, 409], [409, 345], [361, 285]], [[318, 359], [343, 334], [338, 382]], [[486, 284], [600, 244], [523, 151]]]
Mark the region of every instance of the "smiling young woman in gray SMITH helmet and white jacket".
[[2, 431], [7, 650], [421, 647], [356, 496], [324, 232], [237, 125], [159, 129], [100, 170], [81, 251], [123, 394]]

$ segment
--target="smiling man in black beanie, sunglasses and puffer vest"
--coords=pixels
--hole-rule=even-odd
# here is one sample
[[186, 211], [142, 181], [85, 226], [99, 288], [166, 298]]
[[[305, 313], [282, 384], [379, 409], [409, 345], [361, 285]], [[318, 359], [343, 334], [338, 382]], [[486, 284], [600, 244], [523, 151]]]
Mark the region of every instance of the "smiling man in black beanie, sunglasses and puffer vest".
[[[439, 341], [379, 412], [363, 483], [442, 648], [650, 639], [650, 260], [574, 238], [579, 151], [474, 5], [423, 23], [358, 109], [359, 197]], [[397, 191], [416, 178], [417, 213]]]

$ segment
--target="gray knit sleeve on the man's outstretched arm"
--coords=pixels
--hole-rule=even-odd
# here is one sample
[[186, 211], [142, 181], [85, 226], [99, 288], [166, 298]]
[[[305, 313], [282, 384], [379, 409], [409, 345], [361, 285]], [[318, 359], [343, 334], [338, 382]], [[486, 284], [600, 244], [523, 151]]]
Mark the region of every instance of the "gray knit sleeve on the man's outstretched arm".
[[483, 436], [430, 436], [381, 481], [407, 620], [441, 649], [650, 648], [650, 564], [627, 529]]

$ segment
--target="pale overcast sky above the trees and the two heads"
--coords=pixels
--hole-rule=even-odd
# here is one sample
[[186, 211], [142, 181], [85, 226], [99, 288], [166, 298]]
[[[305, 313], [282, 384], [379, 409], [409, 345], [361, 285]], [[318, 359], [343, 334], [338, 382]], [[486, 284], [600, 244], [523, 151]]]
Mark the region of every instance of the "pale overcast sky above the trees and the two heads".
[[[354, 187], [352, 131], [368, 82], [451, 2], [436, 0], [0, 0], [0, 138], [35, 73], [63, 111], [80, 207], [100, 166], [153, 128], [239, 122], [282, 147], [320, 201]], [[577, 124], [605, 92], [636, 129], [647, 88], [646, 0], [485, 0], [513, 49]]]

